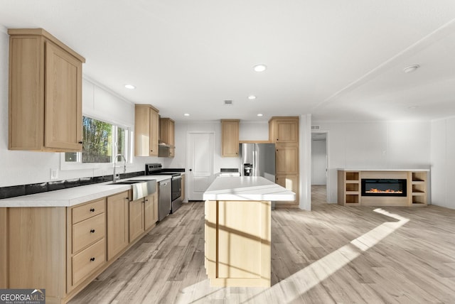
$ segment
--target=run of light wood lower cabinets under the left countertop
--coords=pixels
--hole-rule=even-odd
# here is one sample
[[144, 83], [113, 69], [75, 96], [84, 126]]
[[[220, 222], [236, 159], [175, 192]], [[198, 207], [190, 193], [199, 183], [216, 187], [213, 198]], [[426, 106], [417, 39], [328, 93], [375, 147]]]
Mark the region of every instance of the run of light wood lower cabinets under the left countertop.
[[67, 303], [155, 226], [157, 192], [139, 202], [142, 230], [129, 241], [129, 197], [0, 208], [0, 288], [45, 288], [46, 303]]

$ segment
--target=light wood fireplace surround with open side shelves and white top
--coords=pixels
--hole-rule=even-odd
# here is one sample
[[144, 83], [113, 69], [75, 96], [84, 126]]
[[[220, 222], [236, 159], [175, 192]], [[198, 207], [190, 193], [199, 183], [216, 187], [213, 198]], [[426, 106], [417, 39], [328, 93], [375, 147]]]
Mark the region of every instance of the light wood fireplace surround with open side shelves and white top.
[[[427, 206], [429, 169], [338, 168], [338, 205], [343, 206]], [[362, 180], [405, 180], [406, 195], [363, 194]]]

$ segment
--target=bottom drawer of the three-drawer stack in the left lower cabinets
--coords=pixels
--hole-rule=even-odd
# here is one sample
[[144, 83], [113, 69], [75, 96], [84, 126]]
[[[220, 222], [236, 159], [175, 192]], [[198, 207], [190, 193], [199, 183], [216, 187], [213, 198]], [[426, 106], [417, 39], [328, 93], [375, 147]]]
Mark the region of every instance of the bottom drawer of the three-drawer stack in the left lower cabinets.
[[100, 239], [72, 258], [73, 285], [80, 283], [106, 261], [106, 239]]

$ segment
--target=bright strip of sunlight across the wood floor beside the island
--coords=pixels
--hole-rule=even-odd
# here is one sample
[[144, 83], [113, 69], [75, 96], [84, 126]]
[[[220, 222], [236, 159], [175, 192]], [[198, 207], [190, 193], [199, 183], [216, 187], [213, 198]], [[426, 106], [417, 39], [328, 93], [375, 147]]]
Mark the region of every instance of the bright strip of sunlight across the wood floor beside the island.
[[235, 303], [267, 303], [267, 299], [279, 298], [282, 303], [289, 303], [301, 294], [306, 293], [314, 286], [321, 283], [333, 273], [346, 266], [350, 261], [360, 256], [363, 251], [370, 249], [385, 239], [389, 234], [400, 229], [409, 219], [395, 215], [381, 208], [373, 210], [381, 215], [396, 219], [396, 222], [384, 222], [378, 227], [353, 239], [349, 244], [324, 256], [322, 259], [307, 266], [292, 276], [280, 281], [271, 288], [245, 288], [247, 292], [240, 298], [238, 291], [232, 293], [232, 288], [213, 288], [207, 280], [183, 288], [178, 295], [177, 303], [208, 303], [216, 299], [227, 298], [232, 293]]

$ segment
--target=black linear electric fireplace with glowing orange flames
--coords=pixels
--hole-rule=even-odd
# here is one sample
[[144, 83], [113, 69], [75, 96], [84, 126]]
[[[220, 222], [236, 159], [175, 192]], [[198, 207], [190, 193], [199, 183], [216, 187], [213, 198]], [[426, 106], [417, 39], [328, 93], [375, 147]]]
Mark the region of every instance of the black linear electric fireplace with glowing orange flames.
[[407, 196], [406, 179], [362, 178], [363, 196]]

